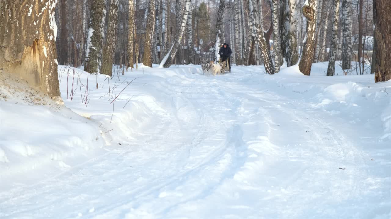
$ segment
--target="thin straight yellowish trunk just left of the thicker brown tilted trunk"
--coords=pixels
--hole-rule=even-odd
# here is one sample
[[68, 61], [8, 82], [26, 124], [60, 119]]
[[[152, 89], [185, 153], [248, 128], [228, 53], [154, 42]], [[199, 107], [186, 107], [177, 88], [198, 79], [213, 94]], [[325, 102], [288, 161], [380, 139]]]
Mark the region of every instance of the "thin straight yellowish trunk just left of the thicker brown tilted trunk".
[[134, 45], [135, 45], [135, 0], [128, 0], [129, 18], [127, 22], [127, 68], [133, 68], [135, 64], [134, 59]]

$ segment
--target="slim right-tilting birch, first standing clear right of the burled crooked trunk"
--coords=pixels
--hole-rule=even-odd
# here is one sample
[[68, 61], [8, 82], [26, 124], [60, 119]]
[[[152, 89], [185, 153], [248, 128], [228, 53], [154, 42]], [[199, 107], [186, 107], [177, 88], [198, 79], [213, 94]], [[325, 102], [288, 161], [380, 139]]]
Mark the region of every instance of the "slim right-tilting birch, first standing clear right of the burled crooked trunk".
[[339, 19], [339, 0], [334, 0], [333, 39], [330, 45], [327, 76], [334, 76], [335, 74], [335, 54], [337, 51], [338, 19]]

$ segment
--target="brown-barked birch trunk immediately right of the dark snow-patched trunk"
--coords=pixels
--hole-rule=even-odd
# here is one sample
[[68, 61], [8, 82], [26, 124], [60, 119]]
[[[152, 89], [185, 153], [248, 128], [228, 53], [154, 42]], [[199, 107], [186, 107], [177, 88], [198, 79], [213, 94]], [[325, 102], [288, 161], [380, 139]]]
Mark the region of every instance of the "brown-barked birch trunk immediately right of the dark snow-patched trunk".
[[118, 0], [110, 0], [109, 18], [107, 27], [107, 39], [104, 44], [102, 53], [102, 68], [101, 74], [112, 76], [113, 57], [117, 46], [117, 30], [118, 30]]

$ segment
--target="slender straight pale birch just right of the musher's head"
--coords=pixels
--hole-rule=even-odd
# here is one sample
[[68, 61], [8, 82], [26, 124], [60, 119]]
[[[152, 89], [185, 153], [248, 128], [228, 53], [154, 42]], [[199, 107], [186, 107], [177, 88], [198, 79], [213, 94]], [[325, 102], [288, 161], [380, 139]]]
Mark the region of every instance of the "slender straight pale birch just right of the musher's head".
[[235, 53], [236, 65], [242, 64], [243, 58], [243, 35], [242, 35], [242, 14], [240, 13], [241, 0], [234, 0], [235, 7]]

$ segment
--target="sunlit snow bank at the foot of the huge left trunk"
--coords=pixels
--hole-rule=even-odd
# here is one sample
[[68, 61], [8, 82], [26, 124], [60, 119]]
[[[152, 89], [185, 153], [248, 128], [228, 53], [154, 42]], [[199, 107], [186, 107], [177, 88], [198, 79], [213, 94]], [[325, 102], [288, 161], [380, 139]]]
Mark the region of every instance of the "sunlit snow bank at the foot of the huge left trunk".
[[[0, 72], [0, 178], [25, 180], [27, 172], [56, 173], [102, 148], [96, 122]], [[64, 159], [72, 157], [71, 163]], [[17, 179], [21, 180], [18, 181]]]

